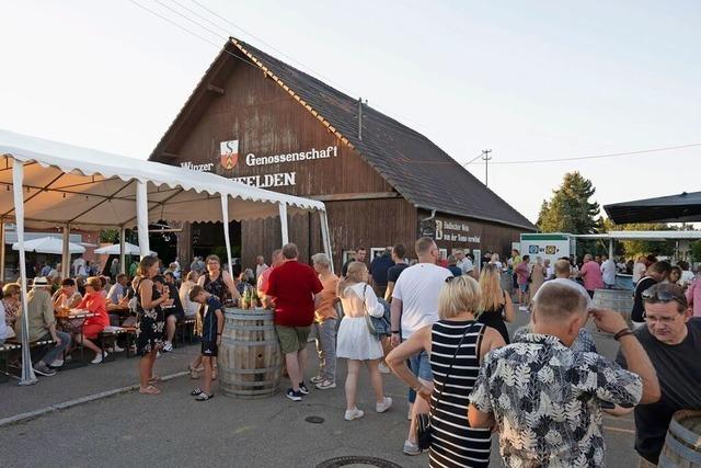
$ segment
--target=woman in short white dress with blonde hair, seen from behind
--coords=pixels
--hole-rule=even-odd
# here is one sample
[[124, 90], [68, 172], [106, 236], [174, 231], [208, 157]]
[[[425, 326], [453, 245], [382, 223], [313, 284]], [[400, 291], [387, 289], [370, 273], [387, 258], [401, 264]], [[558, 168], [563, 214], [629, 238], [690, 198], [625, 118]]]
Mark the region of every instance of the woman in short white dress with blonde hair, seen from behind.
[[338, 297], [343, 304], [344, 317], [338, 327], [336, 356], [348, 359], [346, 377], [346, 413], [345, 420], [363, 418], [365, 413], [355, 404], [360, 364], [366, 363], [370, 373], [370, 383], [377, 398], [375, 410], [383, 413], [392, 406], [392, 399], [382, 391], [382, 376], [379, 364], [384, 356], [380, 340], [368, 329], [366, 315], [382, 317], [384, 306], [367, 284], [368, 269], [365, 263], [353, 262], [348, 265], [348, 274], [338, 284]]

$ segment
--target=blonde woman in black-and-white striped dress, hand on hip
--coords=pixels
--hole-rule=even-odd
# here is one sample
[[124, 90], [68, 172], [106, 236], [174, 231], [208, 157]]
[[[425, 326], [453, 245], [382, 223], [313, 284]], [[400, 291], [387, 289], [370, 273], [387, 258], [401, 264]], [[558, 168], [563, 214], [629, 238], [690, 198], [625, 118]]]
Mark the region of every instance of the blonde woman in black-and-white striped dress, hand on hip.
[[[438, 298], [440, 319], [412, 334], [387, 357], [397, 376], [430, 403], [430, 467], [490, 464], [491, 431], [470, 427], [468, 396], [484, 355], [505, 343], [496, 330], [475, 321], [480, 300], [476, 281], [466, 275], [449, 277]], [[433, 392], [406, 367], [406, 359], [423, 350], [430, 355]]]

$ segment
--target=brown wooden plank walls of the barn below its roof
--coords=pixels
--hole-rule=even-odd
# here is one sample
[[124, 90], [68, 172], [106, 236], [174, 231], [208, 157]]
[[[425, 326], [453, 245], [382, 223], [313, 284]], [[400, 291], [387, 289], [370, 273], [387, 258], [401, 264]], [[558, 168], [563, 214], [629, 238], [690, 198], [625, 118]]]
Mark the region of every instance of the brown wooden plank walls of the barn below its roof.
[[[336, 103], [337, 104], [337, 103]], [[239, 158], [228, 170], [220, 161], [220, 142], [238, 140]], [[265, 158], [311, 150], [326, 150], [333, 156], [296, 162], [249, 165], [248, 155]], [[413, 256], [413, 243], [420, 236], [420, 222], [430, 212], [417, 208], [403, 197], [388, 179], [337, 132], [278, 82], [241, 60], [217, 60], [175, 119], [151, 159], [171, 164], [209, 164], [211, 172], [226, 178], [278, 176], [294, 179], [294, 185], [266, 186], [292, 195], [323, 201], [326, 205], [333, 256], [336, 267], [342, 254], [356, 247], [381, 248], [401, 242]], [[434, 168], [428, 170], [436, 170]], [[290, 175], [294, 174], [294, 175]], [[235, 218], [235, 214], [231, 214]], [[450, 252], [456, 248], [493, 250], [506, 253], [524, 228], [441, 214], [438, 220], [469, 225], [470, 237], [479, 242], [438, 240]], [[221, 229], [217, 225], [217, 229]], [[308, 261], [322, 251], [320, 219], [313, 215], [290, 216], [289, 239]], [[199, 229], [205, 227], [199, 226]], [[215, 225], [209, 228], [215, 229]], [[179, 255], [192, 258], [193, 236], [179, 236]], [[281, 242], [279, 218], [243, 221], [240, 227], [241, 259], [252, 265], [255, 255], [269, 259]], [[234, 236], [235, 237], [235, 236]], [[474, 240], [474, 239], [473, 239]]]

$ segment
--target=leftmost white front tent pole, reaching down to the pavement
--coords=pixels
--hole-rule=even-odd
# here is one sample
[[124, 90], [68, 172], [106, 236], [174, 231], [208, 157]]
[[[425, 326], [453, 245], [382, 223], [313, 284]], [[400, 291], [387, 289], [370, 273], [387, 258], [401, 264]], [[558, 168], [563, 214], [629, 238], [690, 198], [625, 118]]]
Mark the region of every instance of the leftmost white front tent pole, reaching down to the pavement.
[[20, 292], [22, 297], [22, 330], [20, 331], [22, 342], [22, 378], [20, 385], [36, 384], [36, 376], [32, 367], [32, 355], [30, 354], [30, 319], [26, 306], [26, 259], [24, 255], [24, 164], [14, 159], [12, 161], [12, 190], [14, 192], [14, 216], [18, 243], [20, 244]]

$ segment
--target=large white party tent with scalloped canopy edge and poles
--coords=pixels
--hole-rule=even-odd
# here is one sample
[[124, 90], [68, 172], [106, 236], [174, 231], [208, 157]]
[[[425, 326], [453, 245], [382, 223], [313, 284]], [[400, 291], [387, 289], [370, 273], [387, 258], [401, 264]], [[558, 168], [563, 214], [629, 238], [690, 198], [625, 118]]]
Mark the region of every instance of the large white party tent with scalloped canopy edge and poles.
[[[16, 225], [20, 278], [26, 285], [24, 228], [64, 228], [62, 266], [68, 273], [68, 238], [71, 226], [136, 227], [141, 256], [150, 253], [148, 225], [168, 221], [223, 221], [228, 263], [231, 267], [229, 220], [280, 216], [283, 243], [288, 241], [287, 216], [318, 213], [324, 251], [331, 255], [324, 204], [269, 192], [207, 172], [195, 172], [158, 162], [141, 161], [89, 148], [0, 130], [0, 226]], [[4, 229], [0, 232], [3, 236]], [[2, 239], [0, 241], [3, 242]], [[125, 249], [119, 249], [124, 264]], [[4, 250], [0, 262], [4, 262]], [[26, 288], [22, 288], [26, 310]], [[26, 313], [22, 338], [28, 342]], [[30, 347], [22, 349], [21, 385], [36, 381]]]

